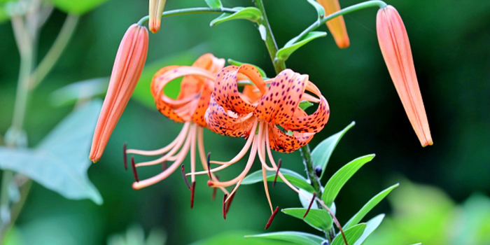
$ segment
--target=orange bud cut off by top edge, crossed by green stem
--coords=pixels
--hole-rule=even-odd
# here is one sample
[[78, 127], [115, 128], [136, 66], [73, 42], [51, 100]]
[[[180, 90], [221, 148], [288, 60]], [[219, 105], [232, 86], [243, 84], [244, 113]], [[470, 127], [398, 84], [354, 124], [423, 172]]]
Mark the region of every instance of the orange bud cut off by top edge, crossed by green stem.
[[[325, 8], [325, 15], [331, 15], [332, 13], [340, 10], [339, 0], [316, 0], [318, 3]], [[339, 48], [349, 47], [350, 41], [347, 35], [347, 29], [345, 27], [344, 16], [340, 15], [337, 18], [328, 20], [328, 29], [332, 33], [335, 43]]]

